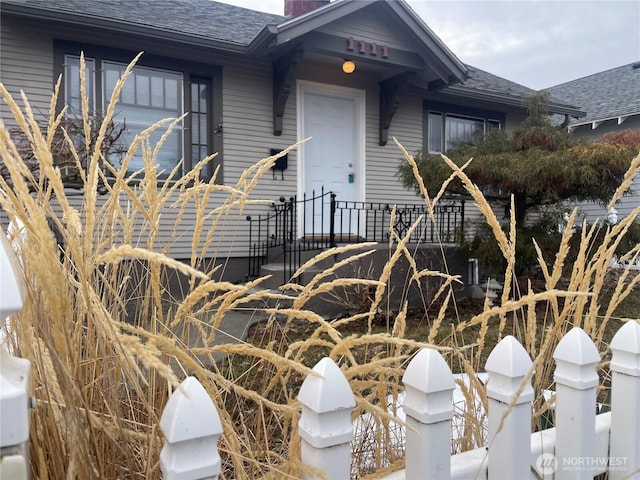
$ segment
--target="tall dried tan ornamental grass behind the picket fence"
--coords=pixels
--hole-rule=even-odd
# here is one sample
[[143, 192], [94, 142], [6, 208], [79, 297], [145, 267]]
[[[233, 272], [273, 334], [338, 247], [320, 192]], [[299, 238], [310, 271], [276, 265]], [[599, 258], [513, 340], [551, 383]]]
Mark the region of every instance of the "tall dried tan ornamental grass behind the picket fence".
[[[133, 62], [127, 72], [132, 67]], [[121, 84], [116, 92], [119, 88]], [[425, 346], [438, 348], [452, 368], [470, 376], [470, 387], [463, 390], [469, 405], [463, 414], [466, 431], [452, 449], [473, 448], [486, 432], [477, 420], [471, 392], [477, 392], [486, 408], [484, 386], [476, 372], [483, 369], [483, 358], [495, 341], [491, 332], [497, 332], [497, 339], [516, 336], [534, 360], [527, 377], [533, 379], [537, 392], [535, 425], [548, 411], [541, 391], [553, 383], [551, 356], [558, 340], [571, 326], [582, 325], [606, 354], [606, 325], [640, 280], [640, 275], [624, 271], [610, 303], [601, 304], [609, 261], [637, 215], [634, 211], [609, 229], [599, 245], [592, 245], [593, 230], [582, 234], [568, 287], [560, 288], [559, 282], [571, 228], [565, 231], [550, 271], [549, 259], [542, 258], [538, 250], [547, 290], [515, 291], [510, 281], [517, 261], [513, 217], [506, 235], [481, 192], [466, 178], [464, 167], [449, 162], [450, 180], [457, 176], [467, 186], [507, 264], [499, 304], [486, 304], [473, 319], [455, 322], [457, 299], [452, 285], [460, 281], [458, 277], [446, 269], [418, 269], [408, 238], [420, 220], [402, 238], [390, 230], [389, 260], [374, 278], [334, 278], [339, 267], [370, 253], [371, 245], [361, 244], [326, 251], [307, 262], [296, 276], [335, 254], [343, 257], [306, 285], [289, 285], [287, 292], [291, 293], [256, 291], [265, 279], [244, 285], [217, 281], [213, 275], [219, 273], [220, 265], [207, 259], [216, 257], [223, 235], [233, 235], [227, 231], [227, 220], [240, 218], [246, 206], [261, 203], [251, 198], [251, 192], [276, 157], [252, 165], [235, 186], [200, 180], [199, 172], [213, 157], [203, 159], [182, 177], [176, 168], [169, 173], [170, 181], [162, 183], [154, 161], [160, 144], [152, 145], [149, 135], [163, 128], [162, 139], [166, 138], [180, 119], [160, 122], [143, 132], [129, 146], [122, 165], [115, 168], [100, 148], [107, 126], [92, 130], [95, 126], [84, 101], [85, 151], [75, 156], [89, 161], [86, 168], [78, 162], [84, 189], [82, 195], [71, 197], [51, 154], [54, 132], [64, 113], [57, 114], [53, 107], [57, 92], [56, 88], [48, 130], [42, 132], [26, 97], [20, 108], [0, 85], [0, 94], [33, 144], [33, 157], [40, 166], [36, 179], [9, 132], [0, 125], [0, 155], [11, 180], [0, 178], [0, 206], [8, 218], [24, 225], [26, 238], [14, 240], [20, 248], [29, 297], [24, 310], [12, 319], [7, 341], [33, 365], [33, 391], [38, 399], [30, 438], [34, 478], [157, 478], [162, 445], [159, 417], [172, 389], [186, 374], [199, 378], [220, 411], [223, 478], [299, 478], [303, 466], [296, 395], [302, 378], [311, 372], [316, 349], [333, 358], [350, 380], [357, 405], [354, 417], [367, 413], [373, 419], [370, 434], [360, 437], [353, 447], [354, 477], [374, 478], [382, 471], [401, 468], [402, 451], [394, 443], [393, 432], [402, 422], [387, 406], [389, 398], [397, 398], [402, 390], [402, 374], [413, 353]], [[109, 103], [105, 122], [113, 117], [116, 96]], [[72, 139], [68, 143], [73, 151]], [[399, 147], [411, 162], [411, 156]], [[284, 153], [293, 148], [296, 145]], [[136, 149], [143, 152], [144, 169], [130, 174], [126, 165]], [[632, 178], [639, 164], [636, 158], [633, 171], [625, 178]], [[627, 183], [621, 188], [628, 187]], [[99, 186], [106, 189], [106, 195], [98, 195]], [[444, 188], [434, 198], [424, 188], [422, 192], [427, 215], [434, 218], [434, 206]], [[214, 193], [224, 194], [224, 201], [213, 204]], [[174, 235], [185, 231], [192, 235], [188, 265], [167, 255], [167, 239], [159, 228], [166, 208], [178, 211]], [[575, 213], [570, 223], [574, 219]], [[637, 253], [634, 249], [630, 255]], [[419, 285], [427, 277], [441, 280], [432, 299], [439, 304], [438, 313], [429, 320], [428, 334], [421, 340], [407, 337], [406, 305], [398, 312], [386, 312], [393, 314], [395, 323], [385, 333], [373, 333], [375, 315], [385, 310], [382, 302], [391, 270], [402, 258], [408, 260], [409, 283]], [[177, 274], [188, 279], [188, 291], [182, 296], [174, 296], [167, 288], [169, 277]], [[375, 288], [367, 312], [329, 321], [308, 307], [312, 298], [352, 287]], [[267, 306], [250, 307], [256, 301]], [[535, 315], [537, 306], [546, 312], [542, 322]], [[311, 325], [313, 331], [308, 339], [295, 343], [214, 345], [225, 315], [238, 309], [256, 310], [272, 324], [284, 319], [285, 331], [294, 321]], [[449, 321], [452, 317], [454, 322]], [[344, 335], [341, 329], [350, 325], [361, 326], [361, 332]], [[231, 359], [229, 364], [220, 361], [225, 356]], [[234, 369], [234, 362], [240, 359], [245, 362], [242, 369]], [[604, 364], [602, 367], [606, 374]]]

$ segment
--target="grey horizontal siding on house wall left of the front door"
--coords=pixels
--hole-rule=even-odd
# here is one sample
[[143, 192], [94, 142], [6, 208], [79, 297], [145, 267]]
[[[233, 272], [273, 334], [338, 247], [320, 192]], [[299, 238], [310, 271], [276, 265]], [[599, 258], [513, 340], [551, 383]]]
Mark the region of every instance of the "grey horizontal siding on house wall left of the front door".
[[[33, 28], [33, 25], [16, 21], [8, 22], [3, 18], [0, 38], [2, 42], [0, 81], [20, 105], [22, 102], [19, 100], [19, 95], [23, 90], [36, 115], [46, 120], [54, 84], [53, 36], [43, 33], [42, 29]], [[218, 60], [223, 63], [223, 59]], [[288, 138], [281, 137], [274, 141], [277, 137], [273, 137], [272, 133], [269, 64], [233, 64], [233, 66], [223, 64], [223, 85], [225, 90], [223, 100], [224, 176], [225, 184], [233, 186], [244, 168], [268, 156], [268, 148], [281, 148], [294, 143], [295, 126], [293, 129], [287, 129]], [[247, 104], [252, 107], [248, 109]], [[3, 120], [11, 127], [15, 122], [12, 121], [13, 116], [8, 107], [2, 102], [0, 108]], [[295, 165], [295, 162], [293, 163]], [[289, 185], [295, 186], [295, 167], [287, 171], [285, 178]], [[277, 183], [268, 175], [258, 183], [252, 198], [273, 199], [280, 196], [282, 191], [282, 181]], [[204, 211], [213, 211], [222, 205], [226, 198], [226, 193], [214, 193]], [[99, 200], [97, 208], [104, 204], [104, 200], [104, 198]], [[193, 242], [197, 213], [194, 208], [187, 208], [183, 212], [180, 212], [179, 208], [171, 208], [173, 202], [177, 200], [177, 195], [174, 195], [167, 202], [160, 217], [158, 228], [161, 236], [156, 246], [166, 249], [167, 253], [175, 258], [189, 258], [192, 245], [202, 246], [204, 238], [200, 242]], [[76, 208], [80, 208], [81, 198], [73, 197], [71, 203]], [[179, 215], [180, 220], [178, 220]], [[214, 254], [225, 256], [229, 253], [246, 255], [248, 241], [245, 233], [248, 222], [244, 219], [245, 215], [245, 212], [234, 208], [228, 215], [223, 216], [208, 256]], [[212, 221], [213, 219], [209, 219], [205, 224], [205, 232]], [[140, 220], [136, 224], [141, 234], [140, 241], [145, 242], [145, 227], [141, 222]], [[215, 250], [215, 253], [212, 250]]]

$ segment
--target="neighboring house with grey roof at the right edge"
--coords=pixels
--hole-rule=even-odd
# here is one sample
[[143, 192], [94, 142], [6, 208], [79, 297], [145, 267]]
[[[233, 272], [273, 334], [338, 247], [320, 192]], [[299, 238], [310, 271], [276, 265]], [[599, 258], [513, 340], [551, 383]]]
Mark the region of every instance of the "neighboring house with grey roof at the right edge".
[[[594, 73], [572, 80], [547, 91], [554, 97], [586, 112], [582, 118], [571, 118], [567, 128], [576, 138], [598, 140], [603, 135], [621, 130], [640, 130], [640, 62]], [[640, 203], [640, 178], [634, 181], [633, 195], [617, 204], [618, 216], [626, 216]], [[604, 219], [605, 207], [582, 202], [580, 210], [588, 221]]]

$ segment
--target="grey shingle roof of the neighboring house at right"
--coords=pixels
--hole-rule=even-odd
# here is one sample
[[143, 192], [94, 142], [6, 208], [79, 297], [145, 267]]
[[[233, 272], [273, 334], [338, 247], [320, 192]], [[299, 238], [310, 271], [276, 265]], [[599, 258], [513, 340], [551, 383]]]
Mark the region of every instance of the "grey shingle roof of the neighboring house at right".
[[587, 112], [584, 118], [569, 126], [640, 115], [640, 62], [594, 73], [572, 80], [547, 91], [554, 97], [579, 105]]

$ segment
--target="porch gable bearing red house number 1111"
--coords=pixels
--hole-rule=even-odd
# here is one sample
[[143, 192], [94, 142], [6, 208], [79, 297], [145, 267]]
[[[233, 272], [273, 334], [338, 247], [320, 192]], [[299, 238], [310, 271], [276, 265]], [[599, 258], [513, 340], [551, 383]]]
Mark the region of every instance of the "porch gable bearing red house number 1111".
[[466, 75], [464, 64], [402, 0], [336, 1], [270, 27], [269, 35], [259, 35], [253, 45], [255, 53], [272, 58], [293, 49], [412, 72], [424, 89], [436, 90]]

